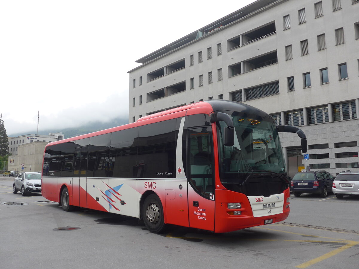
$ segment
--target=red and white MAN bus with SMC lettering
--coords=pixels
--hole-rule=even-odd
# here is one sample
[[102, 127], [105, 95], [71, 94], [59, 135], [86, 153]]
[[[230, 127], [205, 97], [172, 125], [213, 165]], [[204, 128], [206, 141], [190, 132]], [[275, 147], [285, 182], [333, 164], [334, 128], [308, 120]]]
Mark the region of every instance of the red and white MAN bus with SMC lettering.
[[42, 195], [65, 211], [90, 208], [229, 232], [283, 221], [289, 185], [273, 118], [246, 104], [208, 100], [135, 123], [47, 144]]

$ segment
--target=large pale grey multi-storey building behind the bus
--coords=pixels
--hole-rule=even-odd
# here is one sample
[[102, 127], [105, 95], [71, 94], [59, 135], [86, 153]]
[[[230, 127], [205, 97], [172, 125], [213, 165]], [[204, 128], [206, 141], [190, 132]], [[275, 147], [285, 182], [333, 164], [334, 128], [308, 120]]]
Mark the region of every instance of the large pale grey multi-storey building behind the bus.
[[[129, 121], [208, 99], [261, 108], [308, 138], [281, 135], [289, 175], [358, 169], [359, 0], [258, 0], [140, 58]], [[178, 25], [180, 27], [180, 25]]]

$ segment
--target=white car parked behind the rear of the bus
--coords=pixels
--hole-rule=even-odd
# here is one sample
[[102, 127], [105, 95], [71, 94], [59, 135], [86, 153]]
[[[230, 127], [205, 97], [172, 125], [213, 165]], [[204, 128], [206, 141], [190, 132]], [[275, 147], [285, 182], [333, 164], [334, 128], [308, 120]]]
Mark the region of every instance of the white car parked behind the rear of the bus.
[[13, 193], [21, 191], [22, 195], [28, 195], [32, 192], [41, 193], [41, 174], [37, 172], [23, 172], [15, 179], [13, 184]]

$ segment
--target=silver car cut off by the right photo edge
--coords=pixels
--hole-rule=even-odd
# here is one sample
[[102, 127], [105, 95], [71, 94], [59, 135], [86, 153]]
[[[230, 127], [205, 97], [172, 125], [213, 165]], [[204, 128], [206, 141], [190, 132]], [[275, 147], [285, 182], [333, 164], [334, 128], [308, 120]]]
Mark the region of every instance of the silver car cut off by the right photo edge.
[[359, 195], [359, 172], [342, 171], [333, 181], [332, 190], [339, 199], [344, 195]]

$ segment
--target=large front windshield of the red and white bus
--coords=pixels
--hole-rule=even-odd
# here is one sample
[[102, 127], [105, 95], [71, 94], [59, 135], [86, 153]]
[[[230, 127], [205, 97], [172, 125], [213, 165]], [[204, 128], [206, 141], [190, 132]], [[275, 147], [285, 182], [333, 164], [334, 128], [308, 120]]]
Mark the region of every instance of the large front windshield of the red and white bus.
[[[243, 187], [250, 182], [286, 183], [285, 162], [273, 119], [241, 112], [232, 112], [230, 117], [234, 123], [233, 146], [224, 146], [226, 124], [217, 123], [219, 174], [225, 187], [228, 184]], [[236, 188], [229, 186], [229, 189]], [[245, 192], [245, 189], [237, 191]]]

